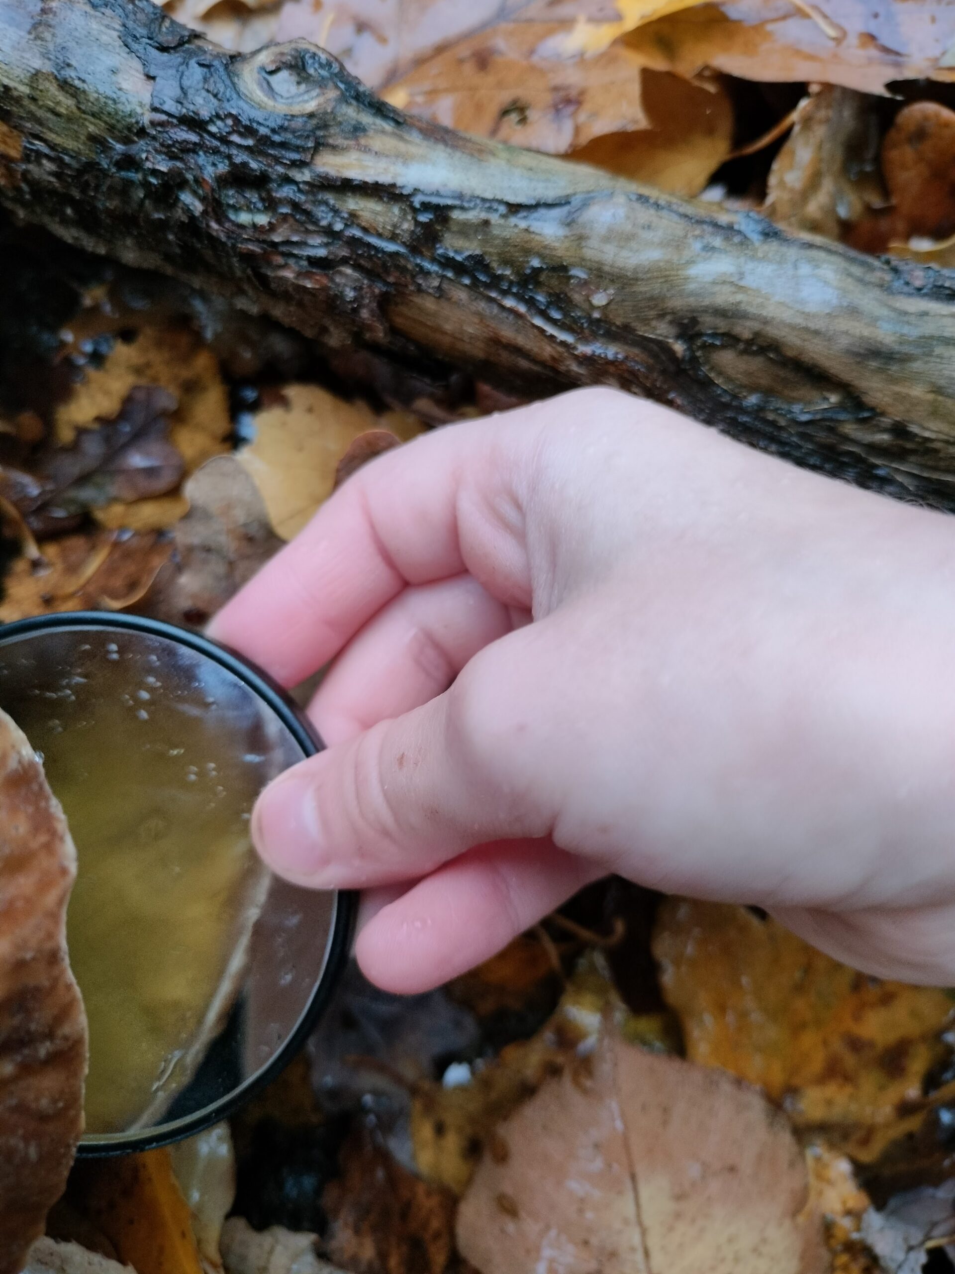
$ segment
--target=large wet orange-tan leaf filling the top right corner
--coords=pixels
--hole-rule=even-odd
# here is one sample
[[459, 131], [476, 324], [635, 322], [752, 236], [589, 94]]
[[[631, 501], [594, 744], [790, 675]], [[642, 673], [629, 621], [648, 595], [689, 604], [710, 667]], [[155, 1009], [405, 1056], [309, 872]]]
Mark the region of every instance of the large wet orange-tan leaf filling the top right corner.
[[689, 78], [704, 68], [768, 83], [842, 84], [882, 93], [903, 79], [950, 79], [947, 0], [723, 0], [624, 37], [646, 66]]

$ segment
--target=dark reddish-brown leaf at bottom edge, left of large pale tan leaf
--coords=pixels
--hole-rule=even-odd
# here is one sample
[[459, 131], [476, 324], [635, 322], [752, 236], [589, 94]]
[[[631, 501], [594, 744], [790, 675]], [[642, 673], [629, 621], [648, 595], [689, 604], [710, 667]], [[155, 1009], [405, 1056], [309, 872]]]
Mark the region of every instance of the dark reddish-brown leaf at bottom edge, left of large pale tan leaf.
[[451, 1274], [456, 1201], [359, 1129], [343, 1148], [341, 1177], [322, 1196], [325, 1254], [351, 1274]]

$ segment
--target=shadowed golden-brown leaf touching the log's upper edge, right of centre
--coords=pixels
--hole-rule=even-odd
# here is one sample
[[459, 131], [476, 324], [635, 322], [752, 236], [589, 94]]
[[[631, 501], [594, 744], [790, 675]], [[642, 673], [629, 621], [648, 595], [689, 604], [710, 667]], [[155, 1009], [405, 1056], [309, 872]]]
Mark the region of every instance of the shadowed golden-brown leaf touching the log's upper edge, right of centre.
[[691, 84], [644, 71], [648, 127], [606, 132], [570, 153], [570, 159], [642, 181], [672, 195], [699, 195], [733, 140], [733, 110], [719, 80]]

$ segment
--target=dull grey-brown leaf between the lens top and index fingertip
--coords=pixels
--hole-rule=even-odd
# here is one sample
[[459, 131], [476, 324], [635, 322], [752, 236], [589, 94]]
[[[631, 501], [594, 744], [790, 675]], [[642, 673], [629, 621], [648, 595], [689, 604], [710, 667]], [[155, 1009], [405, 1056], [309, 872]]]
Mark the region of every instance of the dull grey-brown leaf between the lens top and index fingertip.
[[261, 494], [236, 456], [216, 456], [183, 488], [190, 511], [172, 561], [138, 610], [201, 627], [281, 548]]

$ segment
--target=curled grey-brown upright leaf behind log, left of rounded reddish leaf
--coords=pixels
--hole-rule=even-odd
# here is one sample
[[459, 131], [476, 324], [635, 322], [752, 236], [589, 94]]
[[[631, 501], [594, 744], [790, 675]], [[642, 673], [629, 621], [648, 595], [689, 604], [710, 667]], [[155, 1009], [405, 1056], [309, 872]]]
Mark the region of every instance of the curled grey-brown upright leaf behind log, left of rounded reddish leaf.
[[765, 213], [777, 224], [840, 240], [885, 203], [872, 99], [820, 85], [800, 102], [792, 132], [773, 161]]

